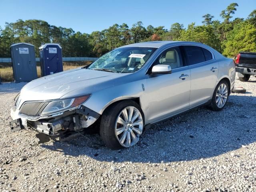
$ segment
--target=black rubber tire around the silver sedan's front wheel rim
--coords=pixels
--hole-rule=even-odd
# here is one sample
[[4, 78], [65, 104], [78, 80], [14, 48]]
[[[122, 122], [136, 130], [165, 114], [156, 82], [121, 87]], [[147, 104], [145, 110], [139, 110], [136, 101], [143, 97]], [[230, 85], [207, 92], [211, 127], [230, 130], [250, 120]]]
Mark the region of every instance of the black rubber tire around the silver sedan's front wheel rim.
[[102, 137], [102, 140], [105, 142], [108, 148], [114, 150], [124, 148], [116, 138], [115, 126], [116, 118], [118, 117], [120, 112], [128, 106], [134, 106], [140, 111], [140, 113], [142, 114], [144, 125], [144, 115], [142, 109], [136, 102], [132, 100], [124, 100], [112, 104], [106, 110], [104, 110], [100, 121], [100, 136]]

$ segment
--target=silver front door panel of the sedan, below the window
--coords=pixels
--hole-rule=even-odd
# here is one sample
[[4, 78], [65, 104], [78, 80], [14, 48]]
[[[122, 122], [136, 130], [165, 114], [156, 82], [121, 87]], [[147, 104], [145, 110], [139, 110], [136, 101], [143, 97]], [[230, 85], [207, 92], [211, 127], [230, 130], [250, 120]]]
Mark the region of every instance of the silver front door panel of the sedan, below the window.
[[[188, 75], [186, 78], [180, 78]], [[175, 69], [171, 74], [149, 75], [145, 94], [148, 99], [148, 122], [156, 122], [189, 108], [190, 70]]]

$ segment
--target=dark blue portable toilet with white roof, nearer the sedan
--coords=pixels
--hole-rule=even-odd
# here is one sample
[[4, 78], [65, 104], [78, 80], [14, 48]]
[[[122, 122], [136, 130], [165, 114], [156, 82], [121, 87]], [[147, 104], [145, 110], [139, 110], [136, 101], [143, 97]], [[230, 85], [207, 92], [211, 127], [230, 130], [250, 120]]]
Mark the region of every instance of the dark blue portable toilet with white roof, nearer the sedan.
[[57, 43], [46, 43], [39, 47], [41, 75], [46, 76], [63, 71], [62, 48]]

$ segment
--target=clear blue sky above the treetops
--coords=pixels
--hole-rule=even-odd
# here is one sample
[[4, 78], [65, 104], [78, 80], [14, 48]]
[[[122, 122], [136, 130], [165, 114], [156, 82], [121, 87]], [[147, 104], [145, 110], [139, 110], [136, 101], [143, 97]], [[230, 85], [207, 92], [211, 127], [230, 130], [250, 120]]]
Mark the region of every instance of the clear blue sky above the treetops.
[[0, 26], [18, 19], [40, 19], [50, 25], [82, 33], [103, 30], [113, 24], [137, 21], [144, 26], [165, 26], [179, 22], [200, 25], [204, 14], [218, 20], [230, 3], [238, 3], [235, 17], [246, 18], [256, 9], [256, 0], [0, 0]]

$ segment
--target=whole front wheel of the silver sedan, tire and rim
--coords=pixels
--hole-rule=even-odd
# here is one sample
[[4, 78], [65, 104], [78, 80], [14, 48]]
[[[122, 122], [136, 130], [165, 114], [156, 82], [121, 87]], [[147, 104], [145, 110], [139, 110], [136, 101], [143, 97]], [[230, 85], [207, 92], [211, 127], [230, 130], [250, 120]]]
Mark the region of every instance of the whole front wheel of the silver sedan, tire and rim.
[[125, 100], [107, 108], [100, 122], [100, 136], [111, 149], [128, 148], [139, 141], [144, 127], [144, 115], [140, 106]]

